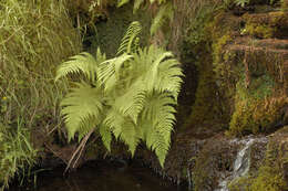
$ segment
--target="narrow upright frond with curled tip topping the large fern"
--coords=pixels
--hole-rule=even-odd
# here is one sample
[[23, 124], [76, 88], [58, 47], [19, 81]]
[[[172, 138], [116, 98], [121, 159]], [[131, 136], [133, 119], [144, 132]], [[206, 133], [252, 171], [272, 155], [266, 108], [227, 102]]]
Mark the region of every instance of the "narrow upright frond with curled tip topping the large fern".
[[125, 35], [123, 36], [121, 44], [119, 46], [116, 55], [123, 54], [123, 53], [132, 53], [132, 50], [135, 50], [136, 47], [133, 47], [133, 45], [136, 45], [133, 43], [137, 35], [141, 33], [142, 26], [140, 22], [134, 21], [130, 24]]

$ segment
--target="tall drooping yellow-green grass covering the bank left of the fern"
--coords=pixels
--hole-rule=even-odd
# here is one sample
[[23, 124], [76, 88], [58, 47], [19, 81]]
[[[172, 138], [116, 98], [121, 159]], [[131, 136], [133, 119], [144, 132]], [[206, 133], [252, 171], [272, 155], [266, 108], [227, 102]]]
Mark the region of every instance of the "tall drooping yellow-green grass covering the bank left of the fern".
[[[2, 135], [9, 136], [0, 141], [0, 148], [25, 153], [31, 130], [45, 134], [60, 125], [58, 103], [66, 82], [55, 85], [54, 71], [59, 63], [78, 54], [81, 46], [64, 0], [0, 1], [0, 123]], [[18, 134], [23, 139], [16, 145]], [[6, 153], [1, 152], [0, 163], [7, 163]], [[13, 163], [18, 169], [18, 165], [22, 166], [18, 161], [30, 160], [14, 155], [7, 165]], [[0, 183], [16, 171], [7, 171], [3, 177], [0, 169]]]

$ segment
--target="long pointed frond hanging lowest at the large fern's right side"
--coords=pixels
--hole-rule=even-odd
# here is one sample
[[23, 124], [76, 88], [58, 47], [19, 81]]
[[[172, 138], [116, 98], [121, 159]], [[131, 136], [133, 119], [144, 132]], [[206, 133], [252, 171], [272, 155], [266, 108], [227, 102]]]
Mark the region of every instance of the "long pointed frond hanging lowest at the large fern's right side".
[[176, 100], [169, 94], [154, 94], [147, 97], [141, 115], [141, 126], [146, 145], [155, 150], [161, 165], [165, 161], [171, 144], [171, 131], [175, 124]]

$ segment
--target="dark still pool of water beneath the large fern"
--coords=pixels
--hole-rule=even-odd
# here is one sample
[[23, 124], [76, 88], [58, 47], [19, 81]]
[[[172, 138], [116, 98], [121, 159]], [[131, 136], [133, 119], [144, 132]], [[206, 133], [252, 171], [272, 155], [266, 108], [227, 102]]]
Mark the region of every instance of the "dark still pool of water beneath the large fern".
[[63, 177], [63, 168], [38, 176], [37, 188], [9, 191], [186, 191], [153, 174], [138, 165], [94, 161]]

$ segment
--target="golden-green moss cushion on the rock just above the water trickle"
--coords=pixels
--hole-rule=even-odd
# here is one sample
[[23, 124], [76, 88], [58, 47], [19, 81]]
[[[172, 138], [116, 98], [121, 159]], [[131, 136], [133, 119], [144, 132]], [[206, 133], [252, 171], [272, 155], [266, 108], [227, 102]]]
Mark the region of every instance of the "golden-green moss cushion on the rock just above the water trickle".
[[275, 130], [275, 123], [281, 119], [281, 108], [286, 104], [285, 98], [272, 96], [265, 99], [236, 98], [228, 135], [240, 136]]

